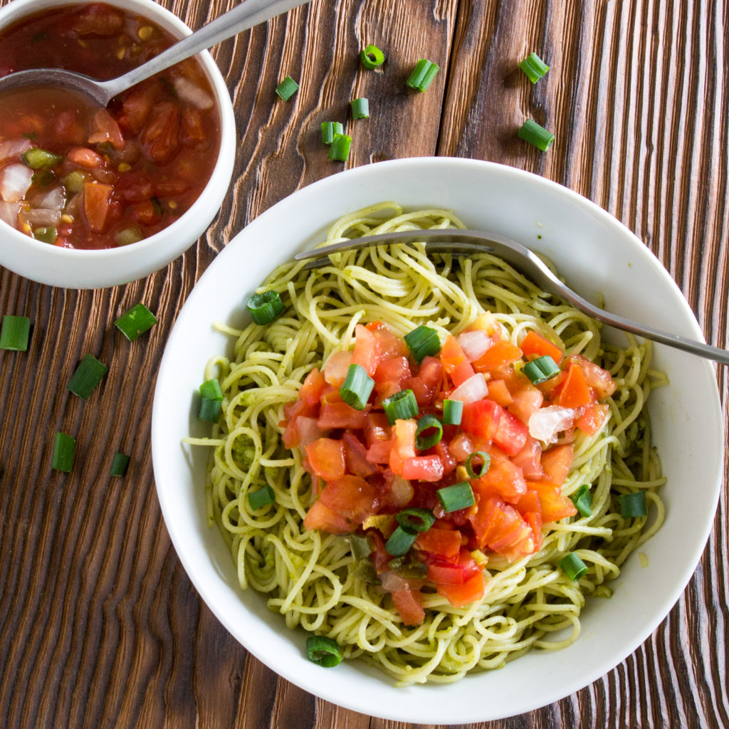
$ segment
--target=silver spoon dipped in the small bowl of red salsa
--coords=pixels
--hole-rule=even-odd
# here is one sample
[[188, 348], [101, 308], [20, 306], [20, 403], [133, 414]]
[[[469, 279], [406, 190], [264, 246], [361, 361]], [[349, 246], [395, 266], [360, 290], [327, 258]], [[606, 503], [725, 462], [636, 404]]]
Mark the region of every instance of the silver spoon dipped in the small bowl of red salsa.
[[117, 94], [131, 88], [140, 81], [144, 81], [144, 79], [148, 79], [150, 76], [154, 76], [159, 71], [164, 71], [201, 50], [257, 26], [259, 23], [265, 23], [266, 20], [270, 20], [270, 18], [281, 15], [281, 13], [303, 5], [308, 1], [245, 0], [242, 4], [171, 45], [147, 63], [143, 63], [141, 66], [137, 66], [136, 69], [132, 69], [128, 73], [109, 81], [97, 81], [84, 74], [77, 74], [74, 71], [66, 71], [65, 69], [29, 69], [28, 71], [17, 71], [15, 74], [8, 74], [1, 78], [0, 91], [17, 86], [50, 84], [80, 91], [93, 98], [101, 106], [106, 106]]

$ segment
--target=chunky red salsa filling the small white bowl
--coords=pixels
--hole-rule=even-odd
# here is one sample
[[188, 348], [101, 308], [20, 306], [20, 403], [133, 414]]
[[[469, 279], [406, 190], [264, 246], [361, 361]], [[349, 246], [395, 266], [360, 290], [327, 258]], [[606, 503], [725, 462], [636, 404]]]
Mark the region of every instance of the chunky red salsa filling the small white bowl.
[[[111, 79], [174, 42], [106, 4], [47, 9], [0, 34], [0, 76], [60, 67]], [[220, 144], [214, 93], [194, 58], [114, 98], [29, 87], [0, 95], [0, 219], [76, 249], [136, 243], [195, 202]]]

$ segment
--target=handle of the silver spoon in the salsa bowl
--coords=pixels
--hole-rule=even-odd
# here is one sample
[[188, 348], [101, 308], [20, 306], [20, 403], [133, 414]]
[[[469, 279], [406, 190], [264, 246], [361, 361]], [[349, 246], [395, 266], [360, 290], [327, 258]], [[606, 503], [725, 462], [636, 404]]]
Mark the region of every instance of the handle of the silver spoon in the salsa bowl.
[[205, 50], [230, 36], [246, 31], [259, 23], [265, 23], [276, 15], [303, 5], [309, 0], [245, 0], [232, 10], [223, 13], [210, 23], [206, 23], [189, 36], [156, 55], [147, 63], [137, 66], [123, 76], [105, 81], [101, 86], [107, 94], [107, 103], [123, 90], [138, 84], [150, 76], [174, 66], [185, 58]]

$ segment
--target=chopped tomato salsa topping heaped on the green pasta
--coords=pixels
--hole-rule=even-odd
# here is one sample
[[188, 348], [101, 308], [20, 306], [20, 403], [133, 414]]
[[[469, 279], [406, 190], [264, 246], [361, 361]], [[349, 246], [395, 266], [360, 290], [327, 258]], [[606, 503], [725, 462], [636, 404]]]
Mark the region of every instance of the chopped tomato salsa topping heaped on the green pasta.
[[426, 586], [464, 607], [490, 558], [536, 553], [543, 525], [577, 513], [562, 493], [574, 437], [600, 432], [614, 391], [607, 370], [535, 331], [517, 346], [489, 313], [445, 340], [357, 324], [284, 410], [318, 496], [304, 526], [350, 534], [405, 624], [424, 620]]

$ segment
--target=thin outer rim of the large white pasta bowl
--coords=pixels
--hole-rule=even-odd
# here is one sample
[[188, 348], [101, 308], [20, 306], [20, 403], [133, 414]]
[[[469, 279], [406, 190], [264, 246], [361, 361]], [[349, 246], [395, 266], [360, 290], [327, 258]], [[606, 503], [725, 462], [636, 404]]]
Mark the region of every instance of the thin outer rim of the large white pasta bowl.
[[[163, 408], [163, 378], [166, 370], [174, 366], [172, 358], [174, 356], [173, 350], [176, 346], [177, 334], [182, 331], [182, 327], [184, 327], [185, 321], [187, 320], [188, 316], [192, 316], [191, 312], [195, 307], [198, 306], [198, 300], [200, 300], [200, 302], [203, 300], [203, 297], [205, 296], [205, 288], [208, 285], [207, 282], [214, 280], [214, 276], [216, 276], [215, 271], [217, 270], [217, 268], [225, 265], [225, 261], [227, 260], [227, 258], [233, 255], [233, 249], [235, 249], [235, 247], [238, 245], [238, 243], [236, 243], [238, 239], [254, 238], [257, 231], [264, 228], [265, 225], [268, 224], [269, 219], [274, 219], [277, 216], [281, 216], [282, 213], [285, 213], [286, 208], [289, 204], [287, 201], [291, 198], [296, 198], [300, 204], [313, 205], [316, 203], [317, 199], [321, 198], [321, 195], [325, 195], [326, 191], [333, 186], [344, 184], [350, 185], [352, 187], [356, 187], [357, 185], [362, 186], [362, 184], [367, 182], [367, 179], [369, 179], [371, 176], [386, 175], [394, 168], [405, 168], [409, 169], [413, 174], [421, 174], [423, 171], [429, 168], [436, 168], [440, 169], [440, 171], [443, 171], [445, 170], [445, 168], [448, 167], [463, 170], [480, 169], [483, 170], [485, 174], [502, 175], [511, 179], [531, 181], [531, 184], [535, 184], [537, 185], [537, 187], [544, 187], [548, 190], [557, 191], [560, 195], [565, 195], [567, 198], [569, 198], [572, 203], [580, 206], [580, 208], [586, 211], [590, 216], [596, 217], [596, 219], [598, 219], [601, 224], [607, 225], [612, 230], [615, 230], [615, 233], [623, 237], [627, 237], [631, 241], [636, 257], [641, 257], [644, 260], [650, 260], [652, 265], [657, 263], [658, 265], [655, 266], [655, 271], [653, 273], [663, 279], [664, 283], [671, 286], [671, 288], [674, 289], [674, 291], [677, 292], [677, 294], [679, 295], [680, 302], [682, 302], [679, 305], [681, 305], [684, 313], [687, 315], [687, 318], [689, 320], [686, 328], [690, 331], [683, 333], [687, 335], [693, 335], [695, 338], [703, 340], [703, 333], [701, 332], [701, 328], [698, 325], [698, 321], [696, 321], [695, 316], [693, 315], [693, 312], [691, 311], [685, 298], [680, 292], [680, 289], [678, 288], [673, 278], [671, 278], [671, 276], [668, 274], [668, 271], [663, 268], [663, 265], [661, 265], [660, 262], [652, 254], [652, 252], [647, 249], [647, 246], [644, 246], [642, 241], [640, 241], [639, 238], [637, 238], [636, 235], [631, 232], [631, 230], [625, 227], [625, 225], [615, 219], [615, 217], [613, 217], [603, 208], [600, 208], [598, 205], [596, 205], [596, 203], [593, 203], [587, 198], [582, 197], [582, 195], [579, 195], [577, 192], [574, 192], [573, 190], [570, 190], [569, 188], [564, 187], [563, 185], [553, 182], [549, 179], [531, 174], [521, 169], [512, 168], [508, 165], [486, 162], [483, 160], [470, 160], [457, 157], [416, 157], [405, 160], [387, 160], [384, 162], [364, 165], [358, 168], [351, 168], [347, 171], [343, 171], [330, 177], [320, 179], [317, 182], [313, 182], [307, 187], [303, 187], [302, 189], [292, 193], [292, 195], [289, 195], [288, 198], [284, 198], [284, 200], [279, 201], [278, 203], [276, 203], [276, 205], [268, 208], [268, 210], [264, 211], [259, 217], [254, 219], [251, 223], [249, 223], [249, 225], [241, 230], [238, 235], [235, 235], [235, 237], [228, 244], [227, 248], [219, 254], [217, 260], [215, 260], [214, 262], [214, 265], [211, 265], [208, 270], [206, 270], [200, 277], [200, 281], [198, 281], [198, 284], [196, 284], [195, 288], [192, 290], [192, 292], [190, 292], [190, 295], [187, 298], [187, 301], [184, 304], [182, 311], [180, 311], [179, 313], [174, 328], [169, 335], [168, 344], [165, 347], [165, 353], [163, 354], [163, 358], [160, 361], [160, 368], [158, 370], [157, 386], [155, 388], [155, 397], [152, 410], [152, 460], [155, 470], [155, 486], [157, 488], [157, 496], [160, 499], [160, 507], [163, 512], [163, 518], [165, 518], [165, 525], [167, 526], [168, 533], [170, 534], [171, 540], [176, 548], [180, 560], [182, 561], [184, 569], [189, 575], [190, 580], [195, 585], [195, 588], [198, 590], [198, 593], [200, 593], [203, 601], [205, 601], [208, 607], [211, 609], [211, 612], [213, 612], [214, 615], [218, 617], [221, 623], [235, 637], [235, 639], [237, 639], [238, 642], [241, 642], [241, 644], [246, 647], [246, 650], [252, 652], [254, 655], [257, 656], [257, 658], [262, 660], [263, 663], [273, 668], [273, 670], [275, 670], [286, 680], [289, 680], [290, 682], [298, 685], [304, 690], [313, 693], [314, 695], [318, 695], [319, 697], [324, 698], [327, 701], [338, 704], [339, 706], [344, 706], [347, 709], [351, 709], [357, 712], [369, 713], [370, 715], [383, 717], [389, 720], [421, 722], [426, 724], [432, 724], [433, 718], [427, 714], [423, 714], [422, 711], [418, 713], [418, 709], [415, 705], [415, 702], [417, 701], [416, 698], [413, 698], [412, 714], [408, 717], [392, 714], [389, 711], [388, 706], [384, 705], [381, 706], [367, 704], [366, 707], [363, 707], [362, 699], [359, 697], [343, 696], [333, 693], [334, 689], [332, 689], [328, 685], [328, 682], [326, 680], [324, 680], [324, 682], [320, 682], [319, 679], [321, 679], [321, 674], [316, 673], [316, 671], [309, 672], [311, 673], [311, 675], [303, 676], [301, 675], [301, 672], [289, 670], [287, 666], [281, 665], [281, 663], [276, 666], [271, 666], [270, 655], [265, 655], [264, 652], [260, 650], [259, 646], [252, 645], [252, 643], [255, 642], [252, 641], [248, 636], [241, 636], [240, 631], [235, 631], [235, 628], [230, 625], [230, 620], [222, 614], [222, 609], [220, 609], [217, 605], [216, 588], [214, 587], [211, 580], [203, 578], [195, 572], [195, 566], [192, 564], [192, 560], [191, 558], [189, 558], [189, 555], [186, 553], [185, 549], [186, 535], [179, 531], [176, 523], [173, 519], [171, 519], [172, 495], [168, 493], [164, 486], [165, 472], [167, 470], [165, 466], [166, 456], [165, 453], [163, 453], [162, 451], [162, 446], [160, 445], [160, 443], [162, 443], [164, 440], [162, 422], [163, 416], [161, 415], [161, 410]], [[339, 212], [340, 214], [343, 214], [344, 211]], [[313, 233], [313, 231], [302, 231], [302, 243], [307, 235], [309, 235], [310, 233]], [[206, 283], [203, 284], [203, 286], [200, 286], [200, 283], [203, 281]], [[211, 356], [213, 354], [215, 353], [210, 353]], [[718, 455], [724, 450], [724, 444], [722, 440], [723, 424], [721, 418], [721, 407], [719, 391], [716, 383], [715, 373], [712, 369], [712, 364], [706, 360], [703, 360], [703, 362], [697, 362], [697, 366], [703, 368], [703, 375], [711, 375], [709, 379], [709, 390], [710, 398], [712, 400], [710, 404], [713, 407], [711, 408], [710, 413], [707, 412], [707, 418], [711, 419], [713, 417], [712, 422], [714, 424], [714, 429], [717, 432], [717, 436], [714, 439], [713, 444], [717, 452], [717, 464], [716, 478], [714, 480], [714, 483], [712, 484], [711, 498], [709, 501], [712, 512], [715, 513], [723, 475], [722, 459]], [[706, 502], [707, 507], [709, 506], [709, 501]], [[680, 598], [690, 578], [693, 576], [696, 567], [698, 566], [701, 554], [703, 553], [703, 550], [706, 546], [706, 541], [709, 538], [709, 533], [712, 529], [712, 523], [712, 519], [704, 522], [701, 532], [697, 534], [695, 541], [693, 541], [693, 546], [688, 552], [690, 554], [690, 558], [687, 559], [687, 566], [685, 567], [685, 569], [682, 570], [682, 572], [676, 574], [677, 579], [674, 580], [673, 584], [671, 585], [669, 597], [664, 600], [664, 605], [667, 605], [665, 611], [654, 612], [649, 619], [645, 620], [642, 624], [642, 629], [639, 631], [638, 638], [634, 639], [631, 642], [623, 644], [620, 650], [617, 650], [613, 652], [613, 654], [611, 654], [611, 658], [609, 659], [609, 661], [601, 660], [599, 666], [597, 666], [596, 668], [593, 668], [591, 671], [586, 671], [578, 679], [572, 679], [571, 682], [566, 682], [560, 690], [553, 691], [551, 695], [549, 695], [549, 697], [547, 698], [547, 701], [534, 701], [527, 698], [525, 701], [523, 701], [523, 703], [516, 707], [512, 713], [499, 713], [489, 715], [488, 717], [485, 717], [483, 715], [483, 712], [480, 714], [474, 714], [473, 712], [469, 713], [464, 711], [459, 712], [459, 710], [453, 710], [453, 715], [449, 716], [448, 720], [444, 721], [443, 724], [482, 722], [487, 720], [504, 718], [514, 714], [521, 714], [523, 712], [529, 712], [534, 709], [538, 709], [541, 706], [546, 706], [549, 703], [553, 703], [554, 701], [559, 701], [562, 698], [565, 698], [567, 695], [574, 693], [575, 691], [580, 690], [590, 683], [596, 681], [607, 672], [614, 670], [616, 666], [620, 665], [620, 663], [622, 663], [623, 660], [628, 657], [628, 655], [631, 655], [631, 653], [633, 653], [641, 644], [643, 644], [649, 638], [650, 634], [655, 631], [655, 628], [657, 628], [657, 626], [666, 619], [668, 612]], [[690, 569], [688, 565], [692, 565], [690, 566]], [[220, 580], [220, 578], [217, 576], [213, 577], [212, 579]], [[271, 613], [271, 615], [273, 615], [273, 613]], [[278, 617], [280, 618], [281, 616]], [[292, 635], [294, 634], [292, 633]], [[246, 639], [246, 637], [248, 639]], [[606, 667], [605, 664], [608, 662], [610, 665]], [[468, 677], [462, 679], [462, 682], [468, 682], [469, 679], [476, 679], [477, 677], [483, 677], [483, 675], [484, 674], [473, 674], [472, 677], [469, 675]], [[443, 687], [436, 685], [428, 685], [428, 687], [430, 690], [436, 691], [439, 688], [443, 689]], [[405, 695], [408, 696], [416, 697], [416, 692], [420, 690], [421, 687], [414, 688], [414, 691], [411, 691], [410, 688], [397, 689], [397, 691], [403, 692], [405, 693]]]

